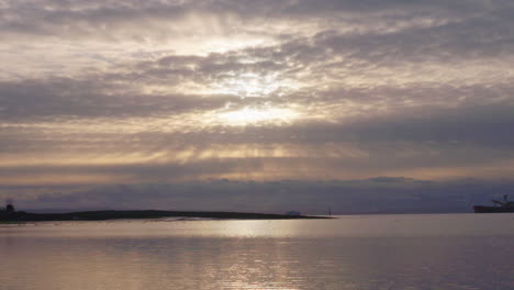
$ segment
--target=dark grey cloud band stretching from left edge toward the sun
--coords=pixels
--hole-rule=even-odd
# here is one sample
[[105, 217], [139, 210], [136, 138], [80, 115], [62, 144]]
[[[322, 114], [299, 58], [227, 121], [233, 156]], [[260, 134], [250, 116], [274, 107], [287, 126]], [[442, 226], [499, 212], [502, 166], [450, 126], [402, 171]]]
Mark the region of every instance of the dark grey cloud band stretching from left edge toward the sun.
[[[0, 82], [0, 119], [4, 121], [62, 118], [150, 116], [223, 107], [233, 96], [152, 94], [114, 85], [108, 79], [53, 79]], [[144, 83], [142, 83], [144, 85]]]

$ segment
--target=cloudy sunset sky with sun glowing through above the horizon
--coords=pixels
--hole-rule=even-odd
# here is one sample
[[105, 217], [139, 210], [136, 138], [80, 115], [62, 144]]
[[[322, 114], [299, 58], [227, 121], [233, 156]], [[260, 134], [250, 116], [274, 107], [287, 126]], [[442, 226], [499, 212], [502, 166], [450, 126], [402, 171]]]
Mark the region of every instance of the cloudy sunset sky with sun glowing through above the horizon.
[[513, 14], [511, 0], [0, 0], [0, 199], [470, 211], [514, 191]]

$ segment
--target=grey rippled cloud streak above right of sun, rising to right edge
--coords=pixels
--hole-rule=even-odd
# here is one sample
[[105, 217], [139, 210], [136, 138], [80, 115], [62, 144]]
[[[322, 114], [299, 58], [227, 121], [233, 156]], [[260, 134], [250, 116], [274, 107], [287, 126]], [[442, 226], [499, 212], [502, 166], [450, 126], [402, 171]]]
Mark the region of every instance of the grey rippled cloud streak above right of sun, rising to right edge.
[[[448, 67], [450, 64], [512, 56], [512, 11], [388, 34], [346, 35], [325, 31], [313, 38], [295, 40], [279, 47], [256, 48], [253, 53], [270, 59], [287, 59], [316, 75], [329, 76], [334, 69], [342, 68], [348, 69], [348, 75], [380, 74], [377, 69], [382, 67], [396, 74], [416, 74], [421, 66], [427, 64]], [[335, 60], [336, 57], [342, 57], [342, 60]]]

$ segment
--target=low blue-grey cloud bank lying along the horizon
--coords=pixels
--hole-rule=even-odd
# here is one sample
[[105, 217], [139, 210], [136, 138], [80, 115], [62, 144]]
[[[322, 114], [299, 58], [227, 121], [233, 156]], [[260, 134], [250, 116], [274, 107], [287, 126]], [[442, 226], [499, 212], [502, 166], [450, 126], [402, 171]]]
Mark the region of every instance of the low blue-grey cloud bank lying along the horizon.
[[74, 194], [55, 192], [19, 198], [20, 208], [166, 209], [326, 214], [362, 212], [470, 212], [473, 204], [509, 191], [510, 181], [425, 181], [405, 178], [273, 182], [211, 180], [190, 183], [118, 185]]

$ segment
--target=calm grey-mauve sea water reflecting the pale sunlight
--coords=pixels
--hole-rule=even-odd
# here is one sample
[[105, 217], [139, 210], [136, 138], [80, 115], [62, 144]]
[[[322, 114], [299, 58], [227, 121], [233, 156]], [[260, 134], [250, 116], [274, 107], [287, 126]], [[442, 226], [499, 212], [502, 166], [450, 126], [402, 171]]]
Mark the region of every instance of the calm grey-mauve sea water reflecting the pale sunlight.
[[514, 289], [514, 214], [0, 225], [0, 289]]

